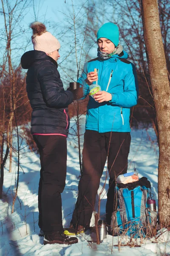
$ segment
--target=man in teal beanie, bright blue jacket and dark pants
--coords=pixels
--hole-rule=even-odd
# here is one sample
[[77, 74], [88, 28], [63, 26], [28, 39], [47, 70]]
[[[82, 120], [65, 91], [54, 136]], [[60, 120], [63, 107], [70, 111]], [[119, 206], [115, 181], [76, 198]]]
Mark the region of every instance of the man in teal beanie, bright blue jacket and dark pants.
[[[79, 195], [67, 235], [83, 233], [90, 225], [100, 178], [108, 158], [109, 189], [106, 203], [106, 221], [111, 224], [114, 210], [116, 177], [127, 172], [130, 149], [130, 107], [137, 104], [138, 86], [134, 65], [119, 44], [119, 29], [105, 23], [97, 32], [98, 57], [85, 63], [78, 82], [83, 86], [84, 98], [91, 84], [101, 91], [89, 96], [84, 146], [82, 151], [82, 176]], [[96, 69], [98, 72], [94, 72]]]

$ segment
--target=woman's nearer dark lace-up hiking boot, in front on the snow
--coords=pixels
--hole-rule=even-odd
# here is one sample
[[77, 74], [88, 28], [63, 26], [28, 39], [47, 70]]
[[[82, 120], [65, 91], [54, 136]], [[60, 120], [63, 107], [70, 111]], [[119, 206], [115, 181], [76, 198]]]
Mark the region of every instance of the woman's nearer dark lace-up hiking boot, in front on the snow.
[[66, 236], [62, 231], [53, 231], [52, 233], [45, 233], [45, 244], [76, 244], [78, 243], [77, 237]]

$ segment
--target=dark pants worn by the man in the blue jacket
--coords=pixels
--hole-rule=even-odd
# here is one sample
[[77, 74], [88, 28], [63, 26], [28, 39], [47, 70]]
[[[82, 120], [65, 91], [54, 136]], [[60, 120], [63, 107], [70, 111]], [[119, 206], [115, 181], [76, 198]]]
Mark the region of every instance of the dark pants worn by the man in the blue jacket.
[[114, 204], [115, 179], [127, 172], [130, 148], [129, 132], [106, 132], [86, 130], [82, 151], [82, 176], [79, 195], [73, 212], [72, 223], [89, 226], [94, 210], [97, 190], [108, 157], [109, 189], [106, 204], [106, 221], [111, 224]]

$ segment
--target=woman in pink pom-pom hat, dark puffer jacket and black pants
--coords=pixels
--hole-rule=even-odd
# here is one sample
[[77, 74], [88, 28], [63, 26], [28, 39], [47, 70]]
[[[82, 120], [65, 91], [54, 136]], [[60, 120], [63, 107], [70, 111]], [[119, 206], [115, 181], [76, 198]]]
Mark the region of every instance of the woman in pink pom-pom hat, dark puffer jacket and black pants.
[[75, 93], [64, 90], [57, 70], [57, 38], [40, 22], [31, 23], [30, 27], [34, 50], [24, 53], [21, 64], [28, 69], [31, 134], [40, 151], [39, 227], [44, 231], [44, 244], [73, 244], [77, 238], [63, 234], [61, 193], [66, 178], [68, 105], [75, 99]]

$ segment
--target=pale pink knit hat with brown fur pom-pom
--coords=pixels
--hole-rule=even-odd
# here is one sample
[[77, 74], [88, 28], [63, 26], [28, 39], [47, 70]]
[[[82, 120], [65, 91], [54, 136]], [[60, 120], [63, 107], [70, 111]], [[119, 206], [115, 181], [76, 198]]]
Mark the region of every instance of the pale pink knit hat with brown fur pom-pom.
[[34, 50], [51, 53], [60, 48], [57, 38], [46, 31], [46, 27], [43, 23], [35, 21], [30, 24], [30, 27], [33, 30], [32, 43]]

